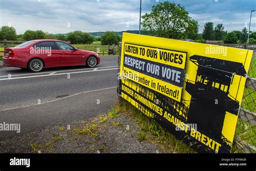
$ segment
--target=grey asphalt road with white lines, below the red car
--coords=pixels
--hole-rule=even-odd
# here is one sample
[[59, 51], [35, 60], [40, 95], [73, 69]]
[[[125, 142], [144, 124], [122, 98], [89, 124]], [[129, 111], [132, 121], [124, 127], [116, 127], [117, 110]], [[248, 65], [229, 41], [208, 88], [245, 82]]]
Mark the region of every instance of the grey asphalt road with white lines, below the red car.
[[[117, 69], [117, 56], [102, 57], [94, 69], [0, 69], [0, 124], [21, 124], [21, 133], [1, 131], [0, 140], [109, 111], [117, 99]], [[56, 98], [64, 94], [69, 97]]]

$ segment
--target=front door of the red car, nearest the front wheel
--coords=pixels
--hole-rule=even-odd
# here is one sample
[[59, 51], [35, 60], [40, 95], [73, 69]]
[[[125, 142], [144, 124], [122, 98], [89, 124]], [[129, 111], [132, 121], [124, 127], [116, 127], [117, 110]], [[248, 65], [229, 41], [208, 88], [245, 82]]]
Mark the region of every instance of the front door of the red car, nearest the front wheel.
[[85, 65], [82, 63], [82, 54], [79, 53], [75, 47], [64, 43], [56, 42], [59, 47], [60, 52], [62, 53], [62, 65], [71, 66], [71, 65]]

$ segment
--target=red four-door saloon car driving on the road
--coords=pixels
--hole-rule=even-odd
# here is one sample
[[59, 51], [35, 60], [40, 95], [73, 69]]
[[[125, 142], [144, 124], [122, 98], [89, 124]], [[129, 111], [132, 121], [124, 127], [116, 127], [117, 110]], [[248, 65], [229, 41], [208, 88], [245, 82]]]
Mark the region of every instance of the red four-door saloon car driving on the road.
[[18, 46], [5, 48], [3, 63], [6, 66], [21, 67], [32, 72], [43, 68], [99, 64], [97, 53], [79, 50], [60, 40], [30, 40]]

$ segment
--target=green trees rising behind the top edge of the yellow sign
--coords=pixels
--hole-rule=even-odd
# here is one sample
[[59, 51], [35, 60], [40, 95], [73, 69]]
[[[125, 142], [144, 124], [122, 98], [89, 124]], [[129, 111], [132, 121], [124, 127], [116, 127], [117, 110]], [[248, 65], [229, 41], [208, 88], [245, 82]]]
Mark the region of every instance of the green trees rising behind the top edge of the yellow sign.
[[[224, 31], [223, 24], [214, 27], [213, 22], [204, 25], [203, 33], [198, 33], [199, 24], [188, 16], [184, 6], [171, 2], [154, 5], [150, 13], [142, 16], [143, 33], [172, 39], [193, 39], [205, 43], [205, 40], [223, 40], [228, 44], [240, 44], [247, 41], [248, 30]], [[256, 32], [250, 31], [249, 43], [256, 44]]]

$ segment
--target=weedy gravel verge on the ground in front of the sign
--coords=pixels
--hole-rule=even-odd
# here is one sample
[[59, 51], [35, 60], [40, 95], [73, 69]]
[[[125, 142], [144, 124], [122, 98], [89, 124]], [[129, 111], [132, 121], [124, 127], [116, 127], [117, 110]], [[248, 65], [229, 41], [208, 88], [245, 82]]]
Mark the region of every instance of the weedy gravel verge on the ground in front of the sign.
[[[143, 135], [129, 113], [100, 115], [70, 125], [46, 127], [38, 132], [0, 142], [0, 153], [158, 153], [157, 139]], [[139, 139], [140, 137], [140, 139]]]

